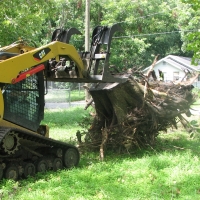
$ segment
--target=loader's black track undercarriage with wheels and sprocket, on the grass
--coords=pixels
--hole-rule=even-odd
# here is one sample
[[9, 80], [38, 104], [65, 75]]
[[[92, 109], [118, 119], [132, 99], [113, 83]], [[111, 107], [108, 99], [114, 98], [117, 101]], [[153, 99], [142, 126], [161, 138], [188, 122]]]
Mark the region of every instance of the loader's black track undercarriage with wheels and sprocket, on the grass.
[[73, 145], [18, 129], [0, 128], [0, 180], [75, 167], [79, 159], [79, 151]]

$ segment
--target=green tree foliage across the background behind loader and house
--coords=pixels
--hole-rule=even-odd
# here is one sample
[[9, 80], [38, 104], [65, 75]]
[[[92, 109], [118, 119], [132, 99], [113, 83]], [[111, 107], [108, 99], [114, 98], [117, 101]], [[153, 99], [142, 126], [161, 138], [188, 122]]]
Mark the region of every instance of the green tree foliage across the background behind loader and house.
[[[91, 32], [97, 25], [121, 23], [123, 32], [115, 34], [110, 64], [119, 69], [149, 66], [154, 57], [169, 55], [199, 58], [198, 0], [93, 0], [90, 1]], [[85, 0], [2, 0], [0, 7], [0, 45], [19, 37], [41, 46], [50, 42], [56, 28], [76, 27], [83, 35], [71, 43], [84, 51]], [[181, 31], [181, 32], [180, 32]], [[184, 32], [183, 32], [184, 31]], [[189, 35], [189, 36], [188, 36]]]

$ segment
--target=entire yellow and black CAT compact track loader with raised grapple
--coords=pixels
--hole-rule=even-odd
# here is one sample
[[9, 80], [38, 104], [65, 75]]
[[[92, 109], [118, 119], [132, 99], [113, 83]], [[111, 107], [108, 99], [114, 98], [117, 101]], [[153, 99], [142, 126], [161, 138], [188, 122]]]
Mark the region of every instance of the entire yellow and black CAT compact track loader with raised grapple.
[[109, 72], [111, 40], [118, 30], [118, 24], [97, 26], [90, 52], [68, 44], [73, 34], [80, 34], [74, 28], [56, 29], [52, 42], [39, 48], [24, 40], [0, 48], [0, 179], [78, 165], [78, 149], [49, 138], [48, 126], [40, 125], [45, 82], [124, 82]]

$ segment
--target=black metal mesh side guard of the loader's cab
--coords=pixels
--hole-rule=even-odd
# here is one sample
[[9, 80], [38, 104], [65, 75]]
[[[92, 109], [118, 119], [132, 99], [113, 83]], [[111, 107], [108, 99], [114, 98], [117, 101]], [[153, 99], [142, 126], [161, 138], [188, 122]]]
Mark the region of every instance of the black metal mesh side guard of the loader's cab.
[[4, 119], [36, 131], [43, 119], [43, 76], [33, 75], [4, 91]]

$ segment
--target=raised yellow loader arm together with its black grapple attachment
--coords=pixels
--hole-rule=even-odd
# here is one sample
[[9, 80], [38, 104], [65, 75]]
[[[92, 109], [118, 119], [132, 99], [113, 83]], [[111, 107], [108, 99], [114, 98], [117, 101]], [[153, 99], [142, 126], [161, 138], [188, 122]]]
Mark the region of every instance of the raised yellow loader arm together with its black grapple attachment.
[[[16, 83], [44, 70], [48, 81], [78, 83], [125, 82], [127, 77], [110, 73], [110, 46], [119, 24], [111, 27], [97, 26], [92, 34], [90, 52], [77, 52], [67, 44], [71, 35], [80, 34], [76, 29], [56, 29], [52, 42], [40, 48], [27, 47], [16, 42], [0, 49], [0, 83]], [[101, 49], [104, 49], [102, 52]], [[18, 53], [18, 54], [17, 54]], [[1, 57], [6, 59], [1, 60]], [[41, 65], [42, 64], [42, 65]]]

